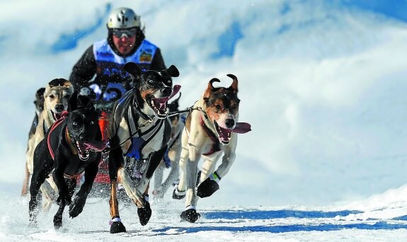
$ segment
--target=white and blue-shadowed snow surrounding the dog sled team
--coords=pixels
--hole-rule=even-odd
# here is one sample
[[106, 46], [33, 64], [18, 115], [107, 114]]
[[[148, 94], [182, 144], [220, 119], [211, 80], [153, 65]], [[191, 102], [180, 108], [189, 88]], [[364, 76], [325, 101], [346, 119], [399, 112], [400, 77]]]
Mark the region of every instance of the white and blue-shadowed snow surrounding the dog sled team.
[[[387, 4], [387, 2], [389, 2]], [[407, 237], [405, 1], [1, 1], [1, 241], [403, 241]], [[183, 201], [153, 201], [140, 226], [108, 233], [108, 202], [75, 219], [56, 207], [28, 224], [19, 193], [35, 91], [106, 36], [112, 8], [142, 16], [147, 39], [175, 64], [180, 107], [217, 77], [239, 79], [237, 158], [221, 188], [180, 223]]]

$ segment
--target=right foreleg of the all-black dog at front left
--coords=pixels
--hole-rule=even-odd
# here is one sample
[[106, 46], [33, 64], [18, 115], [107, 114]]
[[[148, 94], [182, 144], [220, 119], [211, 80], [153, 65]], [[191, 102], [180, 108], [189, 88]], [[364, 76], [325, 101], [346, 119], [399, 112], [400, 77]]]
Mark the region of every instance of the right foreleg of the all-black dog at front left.
[[[101, 156], [99, 155], [96, 160], [100, 161]], [[69, 206], [69, 217], [74, 218], [78, 216], [84, 209], [86, 198], [92, 189], [93, 180], [95, 180], [96, 174], [98, 173], [98, 164], [99, 162], [94, 162], [86, 167], [85, 181], [81, 185], [78, 193], [76, 193], [74, 202]]]

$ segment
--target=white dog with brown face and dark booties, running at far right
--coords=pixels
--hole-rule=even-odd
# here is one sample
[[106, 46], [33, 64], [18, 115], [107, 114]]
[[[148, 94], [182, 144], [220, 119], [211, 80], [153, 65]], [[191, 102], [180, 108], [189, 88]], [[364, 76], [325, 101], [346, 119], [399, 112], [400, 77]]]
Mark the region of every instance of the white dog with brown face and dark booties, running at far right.
[[[173, 198], [182, 199], [186, 195], [185, 210], [181, 219], [195, 222], [200, 214], [196, 212], [197, 197], [209, 197], [219, 189], [219, 181], [229, 172], [236, 158], [237, 133], [251, 131], [251, 125], [238, 122], [239, 98], [236, 76], [228, 74], [233, 83], [229, 88], [215, 88], [209, 81], [207, 89], [194, 109], [188, 115], [182, 135], [180, 155], [180, 183], [174, 188]], [[201, 109], [201, 111], [199, 110]], [[217, 161], [222, 164], [217, 168]], [[200, 185], [197, 183], [197, 165], [204, 159], [200, 171]], [[216, 171], [215, 171], [215, 168]]]

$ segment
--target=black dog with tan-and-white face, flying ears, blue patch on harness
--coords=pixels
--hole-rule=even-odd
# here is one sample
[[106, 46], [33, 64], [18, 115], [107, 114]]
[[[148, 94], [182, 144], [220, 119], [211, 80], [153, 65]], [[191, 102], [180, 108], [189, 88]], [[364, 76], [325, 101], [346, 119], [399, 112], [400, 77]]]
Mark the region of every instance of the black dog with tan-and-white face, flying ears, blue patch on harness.
[[[125, 64], [136, 88], [128, 91], [113, 105], [109, 118], [110, 233], [125, 232], [120, 220], [117, 201], [117, 181], [128, 197], [137, 204], [140, 224], [151, 217], [148, 202], [149, 180], [159, 165], [170, 139], [171, 125], [167, 119], [167, 101], [180, 86], [173, 87], [171, 77], [179, 76], [174, 66], [162, 71], [142, 72], [137, 64]], [[137, 161], [132, 171], [134, 180], [125, 169], [123, 154]]]

